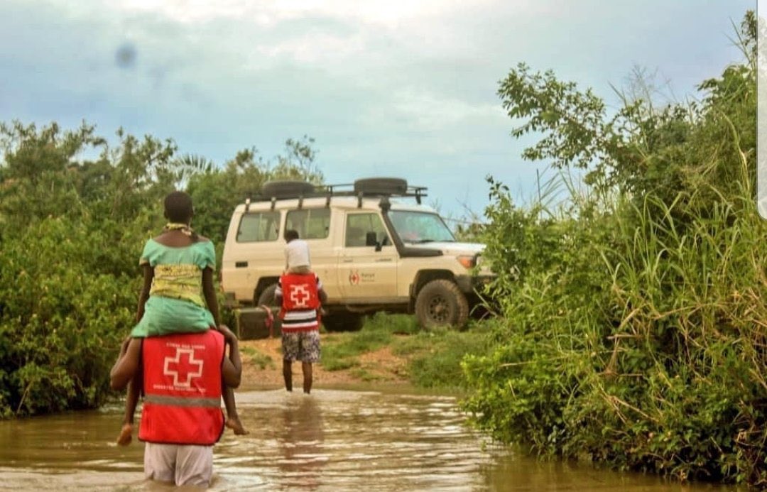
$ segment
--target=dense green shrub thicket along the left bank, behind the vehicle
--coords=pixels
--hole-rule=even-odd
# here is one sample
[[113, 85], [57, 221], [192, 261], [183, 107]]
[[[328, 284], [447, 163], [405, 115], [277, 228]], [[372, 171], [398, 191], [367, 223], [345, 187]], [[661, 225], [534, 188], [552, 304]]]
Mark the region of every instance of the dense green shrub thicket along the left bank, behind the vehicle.
[[[162, 199], [193, 195], [193, 226], [221, 251], [232, 208], [265, 179], [321, 179], [311, 140], [275, 165], [246, 149], [222, 169], [151, 136], [0, 125], [0, 418], [94, 408], [134, 323], [143, 242]], [[84, 159], [94, 154], [95, 159]]]

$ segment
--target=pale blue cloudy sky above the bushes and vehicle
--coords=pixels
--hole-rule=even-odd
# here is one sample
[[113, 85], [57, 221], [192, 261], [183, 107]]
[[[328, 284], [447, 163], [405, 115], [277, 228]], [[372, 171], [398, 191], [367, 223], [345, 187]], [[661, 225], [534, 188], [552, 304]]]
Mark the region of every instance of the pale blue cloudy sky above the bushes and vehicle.
[[739, 61], [755, 0], [0, 0], [0, 120], [172, 138], [223, 163], [313, 137], [328, 182], [400, 176], [446, 215], [535, 170], [496, 95], [521, 61], [613, 106], [634, 67], [667, 94]]

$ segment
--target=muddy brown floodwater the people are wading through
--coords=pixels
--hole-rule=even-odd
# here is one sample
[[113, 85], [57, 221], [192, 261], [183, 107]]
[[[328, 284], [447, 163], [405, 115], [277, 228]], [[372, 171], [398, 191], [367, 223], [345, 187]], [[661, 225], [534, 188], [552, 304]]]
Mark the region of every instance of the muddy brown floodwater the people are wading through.
[[[456, 399], [317, 389], [239, 392], [250, 435], [225, 432], [211, 490], [737, 490], [541, 463], [463, 425]], [[0, 421], [0, 489], [173, 490], [143, 444], [114, 444], [120, 406]]]

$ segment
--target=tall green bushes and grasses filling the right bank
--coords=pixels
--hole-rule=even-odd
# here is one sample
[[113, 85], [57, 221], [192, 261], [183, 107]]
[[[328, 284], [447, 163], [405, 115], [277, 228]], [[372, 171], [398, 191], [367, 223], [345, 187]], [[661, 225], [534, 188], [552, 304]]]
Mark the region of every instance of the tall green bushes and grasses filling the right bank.
[[[463, 360], [465, 408], [499, 441], [681, 480], [767, 487], [767, 241], [756, 186], [756, 32], [745, 60], [663, 107], [604, 100], [524, 64], [499, 95], [525, 150], [587, 187], [519, 208], [489, 178], [502, 322]], [[649, 91], [646, 91], [649, 93]]]

